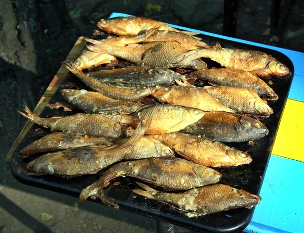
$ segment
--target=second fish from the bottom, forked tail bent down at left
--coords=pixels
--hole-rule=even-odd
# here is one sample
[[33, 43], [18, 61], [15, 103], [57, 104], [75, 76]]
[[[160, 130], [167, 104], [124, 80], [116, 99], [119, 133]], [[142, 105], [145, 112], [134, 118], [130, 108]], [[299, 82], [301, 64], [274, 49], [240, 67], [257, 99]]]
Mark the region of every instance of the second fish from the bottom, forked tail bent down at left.
[[117, 204], [106, 199], [103, 189], [110, 180], [119, 176], [135, 177], [167, 190], [193, 189], [216, 183], [221, 178], [221, 174], [211, 168], [179, 158], [159, 157], [127, 161], [105, 171], [99, 180], [82, 191], [80, 200], [84, 201], [89, 196], [97, 195], [104, 204], [118, 208]]

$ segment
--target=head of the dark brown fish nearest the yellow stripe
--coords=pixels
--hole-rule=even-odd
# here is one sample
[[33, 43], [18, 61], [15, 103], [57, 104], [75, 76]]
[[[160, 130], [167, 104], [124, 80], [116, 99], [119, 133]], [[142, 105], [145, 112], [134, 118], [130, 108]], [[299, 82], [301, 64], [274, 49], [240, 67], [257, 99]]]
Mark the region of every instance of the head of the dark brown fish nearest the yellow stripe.
[[265, 125], [251, 117], [242, 116], [238, 121], [242, 130], [248, 134], [249, 138], [260, 138], [269, 133], [269, 130]]

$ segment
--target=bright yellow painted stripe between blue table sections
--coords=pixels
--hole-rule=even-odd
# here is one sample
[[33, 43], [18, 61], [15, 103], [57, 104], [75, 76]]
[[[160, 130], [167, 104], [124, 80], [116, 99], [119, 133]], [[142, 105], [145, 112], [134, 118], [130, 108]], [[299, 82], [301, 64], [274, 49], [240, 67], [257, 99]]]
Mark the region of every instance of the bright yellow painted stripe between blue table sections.
[[288, 99], [272, 150], [273, 155], [304, 162], [304, 103]]

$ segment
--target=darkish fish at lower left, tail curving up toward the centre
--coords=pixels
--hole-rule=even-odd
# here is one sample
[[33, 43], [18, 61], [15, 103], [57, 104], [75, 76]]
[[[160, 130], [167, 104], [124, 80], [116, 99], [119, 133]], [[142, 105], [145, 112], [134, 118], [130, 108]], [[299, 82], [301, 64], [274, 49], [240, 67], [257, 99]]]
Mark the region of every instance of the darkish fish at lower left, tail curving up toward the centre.
[[99, 170], [122, 160], [127, 151], [145, 133], [149, 122], [142, 122], [130, 139], [124, 144], [112, 148], [98, 146], [80, 147], [49, 153], [28, 163], [26, 169], [35, 175], [52, 174], [65, 177], [72, 177], [83, 174], [96, 173]]

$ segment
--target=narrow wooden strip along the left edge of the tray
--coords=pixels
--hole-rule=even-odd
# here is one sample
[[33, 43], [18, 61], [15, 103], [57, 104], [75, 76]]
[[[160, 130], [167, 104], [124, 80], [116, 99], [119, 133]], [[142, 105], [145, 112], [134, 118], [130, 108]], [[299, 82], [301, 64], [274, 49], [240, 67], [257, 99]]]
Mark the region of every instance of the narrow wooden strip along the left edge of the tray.
[[[67, 55], [66, 59], [69, 59], [72, 62], [76, 60], [77, 56], [79, 55], [79, 53], [82, 51], [82, 49], [84, 48], [84, 46], [86, 44], [86, 41], [83, 40], [83, 38], [84, 38], [83, 36], [78, 38], [78, 40], [74, 44], [72, 50]], [[67, 73], [68, 73], [68, 70], [65, 68], [64, 65], [61, 65], [60, 69], [58, 70], [58, 72], [54, 76], [53, 80], [51, 81], [50, 85], [48, 86], [48, 88], [44, 92], [42, 98], [40, 99], [36, 108], [33, 111], [37, 116], [39, 116], [42, 113], [42, 111], [44, 110], [44, 108], [47, 106], [47, 104], [49, 103], [49, 101], [51, 100], [53, 95], [55, 94], [56, 90], [58, 89], [58, 87], [63, 82], [64, 77]], [[25, 137], [25, 135], [28, 133], [29, 129], [32, 127], [33, 124], [34, 123], [30, 120], [28, 120], [25, 123], [25, 125], [22, 128], [21, 132], [19, 133], [16, 141], [14, 142], [14, 144], [11, 147], [9, 153], [7, 154], [6, 161], [8, 163], [10, 163], [10, 160], [11, 160], [11, 157], [12, 157], [14, 151], [16, 150], [16, 148], [18, 147], [18, 145], [20, 144], [22, 139]]]

